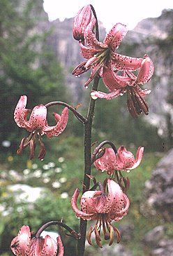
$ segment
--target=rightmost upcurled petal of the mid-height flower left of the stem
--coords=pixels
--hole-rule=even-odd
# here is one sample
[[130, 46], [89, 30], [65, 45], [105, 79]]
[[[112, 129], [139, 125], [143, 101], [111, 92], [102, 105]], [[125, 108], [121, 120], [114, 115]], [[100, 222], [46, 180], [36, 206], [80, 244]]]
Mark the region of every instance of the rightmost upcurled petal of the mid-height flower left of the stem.
[[68, 122], [68, 107], [63, 109], [61, 119], [56, 126], [45, 126], [43, 132], [46, 133], [47, 137], [58, 136], [66, 128]]

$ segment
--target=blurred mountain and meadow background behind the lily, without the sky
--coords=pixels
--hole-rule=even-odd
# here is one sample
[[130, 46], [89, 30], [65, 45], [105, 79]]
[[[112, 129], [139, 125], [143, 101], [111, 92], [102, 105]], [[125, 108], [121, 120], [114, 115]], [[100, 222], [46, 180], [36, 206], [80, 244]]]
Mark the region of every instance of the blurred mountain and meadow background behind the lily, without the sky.
[[[88, 4], [88, 3], [86, 3]], [[79, 8], [81, 8], [80, 6]], [[78, 10], [77, 10], [78, 11]], [[97, 13], [97, 10], [96, 10]], [[99, 19], [99, 16], [98, 16]], [[112, 18], [112, 26], [114, 25]], [[87, 244], [90, 255], [164, 255], [171, 256], [173, 243], [173, 87], [172, 33], [173, 10], [164, 9], [158, 17], [137, 23], [123, 39], [117, 52], [142, 58], [147, 53], [153, 60], [153, 79], [145, 88], [152, 90], [146, 101], [149, 116], [132, 119], [126, 109], [126, 95], [114, 100], [97, 100], [93, 120], [92, 142], [111, 140], [134, 154], [144, 146], [140, 167], [130, 177], [130, 210], [115, 223], [121, 232], [120, 245], [103, 249]], [[106, 34], [102, 20], [100, 39]], [[54, 100], [69, 105], [81, 104], [86, 116], [91, 87], [84, 89], [87, 75], [72, 76], [73, 68], [82, 61], [78, 42], [72, 36], [73, 17], [50, 22], [38, 0], [1, 0], [0, 8], [0, 255], [13, 255], [10, 241], [22, 225], [36, 231], [50, 220], [61, 220], [78, 229], [70, 208], [70, 198], [78, 187], [82, 190], [84, 157], [83, 126], [70, 113], [68, 126], [59, 137], [45, 142], [44, 161], [28, 160], [16, 151], [26, 130], [18, 128], [13, 112], [20, 95], [27, 95], [27, 108]], [[105, 90], [100, 82], [99, 90]], [[62, 107], [48, 112], [61, 113]], [[98, 177], [95, 168], [92, 175]], [[103, 173], [99, 179], [104, 180]], [[90, 223], [89, 223], [90, 224]], [[50, 231], [59, 232], [51, 227]], [[75, 241], [62, 234], [65, 255], [75, 256]]]

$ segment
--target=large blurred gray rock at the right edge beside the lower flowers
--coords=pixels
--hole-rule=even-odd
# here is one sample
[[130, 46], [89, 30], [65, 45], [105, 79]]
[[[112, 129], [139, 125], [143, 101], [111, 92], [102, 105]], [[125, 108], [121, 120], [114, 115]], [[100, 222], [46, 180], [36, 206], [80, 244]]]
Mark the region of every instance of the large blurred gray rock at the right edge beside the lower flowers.
[[142, 213], [146, 216], [161, 215], [173, 220], [173, 149], [158, 163], [151, 179], [146, 182]]

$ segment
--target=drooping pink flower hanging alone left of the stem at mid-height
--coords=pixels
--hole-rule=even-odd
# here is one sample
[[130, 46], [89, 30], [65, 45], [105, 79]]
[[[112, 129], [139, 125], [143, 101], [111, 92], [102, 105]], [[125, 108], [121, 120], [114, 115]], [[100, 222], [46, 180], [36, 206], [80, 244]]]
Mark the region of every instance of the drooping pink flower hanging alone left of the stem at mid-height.
[[[53, 113], [54, 119], [57, 122], [55, 126], [48, 126], [47, 124], [47, 108], [44, 105], [38, 105], [30, 109], [26, 109], [27, 96], [23, 95], [20, 97], [19, 102], [15, 108], [14, 119], [17, 126], [27, 129], [31, 134], [29, 137], [24, 137], [20, 143], [20, 148], [17, 150], [17, 154], [22, 154], [23, 149], [29, 147], [29, 158], [33, 159], [35, 156], [36, 149], [36, 136], [40, 142], [40, 152], [38, 158], [40, 160], [45, 157], [45, 146], [42, 142], [42, 135], [47, 137], [58, 136], [66, 128], [68, 121], [68, 108], [65, 107], [61, 116], [57, 113]], [[29, 120], [27, 116], [31, 112]]]

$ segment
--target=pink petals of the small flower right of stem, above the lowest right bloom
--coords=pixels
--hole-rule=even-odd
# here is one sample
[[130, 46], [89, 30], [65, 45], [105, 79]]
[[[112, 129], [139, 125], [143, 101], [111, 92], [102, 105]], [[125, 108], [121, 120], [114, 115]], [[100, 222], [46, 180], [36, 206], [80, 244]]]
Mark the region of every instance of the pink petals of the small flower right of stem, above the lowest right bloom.
[[119, 147], [117, 154], [114, 154], [112, 148], [106, 148], [105, 154], [93, 164], [99, 172], [107, 171], [108, 175], [112, 175], [114, 170], [125, 170], [129, 173], [130, 170], [133, 170], [140, 165], [143, 151], [144, 147], [139, 147], [135, 159], [133, 154], [126, 150], [126, 147]]

